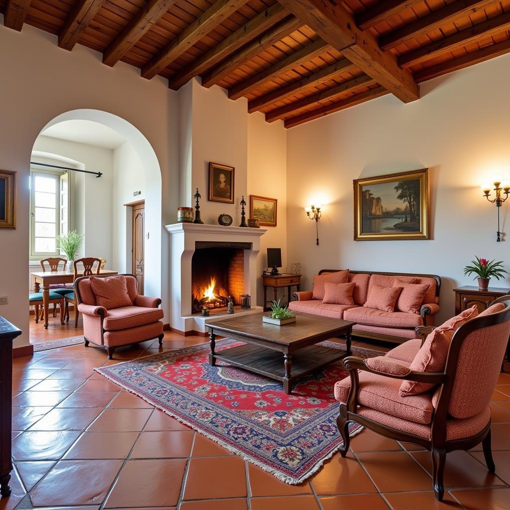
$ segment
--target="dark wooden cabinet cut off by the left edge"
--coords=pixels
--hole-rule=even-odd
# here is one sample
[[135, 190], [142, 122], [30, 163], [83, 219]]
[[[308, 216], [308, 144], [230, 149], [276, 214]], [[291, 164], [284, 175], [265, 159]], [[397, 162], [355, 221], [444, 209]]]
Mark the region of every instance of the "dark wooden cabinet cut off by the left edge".
[[12, 341], [21, 331], [0, 317], [0, 496], [9, 496], [12, 460]]

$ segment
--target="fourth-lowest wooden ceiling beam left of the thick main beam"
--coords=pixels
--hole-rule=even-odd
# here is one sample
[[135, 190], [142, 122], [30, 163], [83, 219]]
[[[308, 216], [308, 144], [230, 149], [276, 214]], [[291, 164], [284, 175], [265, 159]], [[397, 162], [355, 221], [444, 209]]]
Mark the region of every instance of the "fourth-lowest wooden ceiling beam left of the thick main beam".
[[322, 39], [311, 42], [285, 59], [268, 67], [267, 69], [264, 69], [263, 71], [259, 71], [251, 78], [234, 85], [234, 87], [228, 90], [228, 97], [231, 99], [237, 99], [259, 85], [273, 80], [278, 75], [284, 74], [291, 69], [300, 66], [304, 62], [320, 56], [322, 53], [327, 51], [327, 48], [329, 48], [329, 44], [324, 42]]

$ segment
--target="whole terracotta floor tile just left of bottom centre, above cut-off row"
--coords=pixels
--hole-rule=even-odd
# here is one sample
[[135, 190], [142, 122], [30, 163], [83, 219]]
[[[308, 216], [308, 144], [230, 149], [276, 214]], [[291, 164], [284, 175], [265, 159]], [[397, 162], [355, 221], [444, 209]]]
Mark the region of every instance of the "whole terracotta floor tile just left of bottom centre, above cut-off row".
[[246, 476], [241, 457], [191, 458], [183, 499], [246, 497]]

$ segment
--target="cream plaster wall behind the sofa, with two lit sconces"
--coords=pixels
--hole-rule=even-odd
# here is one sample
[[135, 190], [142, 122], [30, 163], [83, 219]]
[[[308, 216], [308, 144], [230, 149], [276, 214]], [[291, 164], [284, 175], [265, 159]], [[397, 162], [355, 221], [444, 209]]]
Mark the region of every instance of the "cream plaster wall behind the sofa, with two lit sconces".
[[[439, 274], [439, 320], [454, 313], [452, 289], [474, 256], [510, 270], [510, 203], [496, 207], [479, 185], [495, 169], [510, 175], [510, 55], [421, 85], [404, 105], [384, 96], [295, 127], [287, 133], [288, 260], [303, 264], [303, 289], [321, 268]], [[430, 168], [431, 234], [427, 241], [353, 241], [352, 180]], [[303, 207], [322, 202], [320, 245]], [[509, 201], [510, 202], [510, 201]], [[510, 288], [510, 279], [491, 282]]]

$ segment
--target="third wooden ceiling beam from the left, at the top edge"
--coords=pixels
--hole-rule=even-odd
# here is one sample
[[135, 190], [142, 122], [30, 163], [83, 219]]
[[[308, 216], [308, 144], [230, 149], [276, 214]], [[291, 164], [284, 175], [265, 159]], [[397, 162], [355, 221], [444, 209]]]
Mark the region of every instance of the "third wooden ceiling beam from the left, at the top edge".
[[113, 67], [176, 1], [150, 0], [105, 50], [103, 64]]

